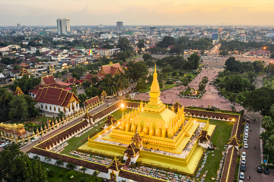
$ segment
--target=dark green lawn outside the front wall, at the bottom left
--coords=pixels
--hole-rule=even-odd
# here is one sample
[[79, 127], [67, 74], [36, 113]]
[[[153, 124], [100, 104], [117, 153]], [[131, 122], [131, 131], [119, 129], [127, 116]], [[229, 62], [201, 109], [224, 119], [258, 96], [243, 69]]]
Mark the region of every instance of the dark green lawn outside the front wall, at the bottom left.
[[[33, 159], [30, 159], [30, 160], [33, 160]], [[51, 180], [51, 181], [54, 181], [54, 182], [77, 182], [79, 181], [79, 178], [83, 177], [83, 174], [78, 172], [78, 171], [75, 171], [76, 172], [76, 176], [73, 178], [73, 180], [68, 180], [66, 178], [66, 173], [69, 172], [68, 169], [66, 168], [63, 168], [63, 167], [57, 167], [57, 166], [54, 166], [54, 165], [51, 165], [51, 164], [48, 164], [48, 163], [43, 163], [44, 161], [42, 161], [42, 164], [44, 165], [44, 167], [46, 169], [52, 169], [54, 172], [55, 172], [55, 175], [53, 177], [47, 177], [47, 180]], [[63, 173], [64, 176], [63, 177], [59, 177], [59, 173]], [[85, 175], [87, 178], [88, 178], [88, 181], [89, 182], [95, 182], [95, 178], [92, 177], [91, 175], [88, 175], [86, 174]], [[100, 177], [97, 177], [97, 181], [96, 182], [101, 182], [103, 181], [104, 179], [103, 178], [100, 178]]]

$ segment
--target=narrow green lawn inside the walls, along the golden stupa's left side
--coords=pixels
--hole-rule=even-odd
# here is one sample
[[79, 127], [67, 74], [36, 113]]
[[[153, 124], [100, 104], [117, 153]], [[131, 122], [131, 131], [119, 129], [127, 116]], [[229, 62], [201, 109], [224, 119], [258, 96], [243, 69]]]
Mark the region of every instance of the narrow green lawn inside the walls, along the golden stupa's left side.
[[[129, 113], [129, 111], [132, 111], [132, 109], [129, 108], [121, 108], [117, 111], [115, 111], [114, 113], [112, 113], [111, 115], [114, 116], [114, 118], [116, 120], [119, 120], [122, 117], [122, 114], [124, 112], [125, 113]], [[105, 117], [104, 119], [100, 120], [98, 123], [100, 123], [101, 121], [105, 121], [107, 120], [107, 117]], [[101, 132], [102, 130], [100, 129], [100, 127], [104, 126], [104, 123], [100, 123], [98, 124], [98, 126], [94, 127], [93, 129], [89, 130], [88, 132], [84, 133], [83, 135], [79, 136], [79, 137], [72, 137], [71, 139], [67, 140], [68, 142], [68, 146], [65, 147], [65, 150], [63, 150], [61, 153], [65, 153], [65, 154], [69, 154], [69, 152], [76, 150], [78, 147], [80, 147], [81, 145], [83, 145], [84, 143], [87, 142], [87, 138], [88, 136], [93, 135], [96, 132]], [[85, 142], [82, 143], [83, 140], [86, 140]], [[75, 157], [75, 156], [74, 156]]]

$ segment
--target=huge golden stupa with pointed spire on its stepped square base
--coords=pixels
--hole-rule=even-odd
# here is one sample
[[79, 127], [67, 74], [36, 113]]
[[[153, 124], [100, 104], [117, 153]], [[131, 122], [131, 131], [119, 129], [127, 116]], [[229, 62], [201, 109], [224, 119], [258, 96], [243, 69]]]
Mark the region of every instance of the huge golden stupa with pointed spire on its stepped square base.
[[[106, 157], [123, 157], [127, 164], [142, 161], [144, 165], [194, 175], [215, 125], [209, 120], [184, 116], [184, 108], [166, 106], [160, 100], [156, 68], [149, 102], [141, 104], [116, 123], [88, 140], [78, 151]], [[180, 107], [181, 106], [181, 107]], [[121, 106], [123, 107], [123, 106]], [[177, 112], [176, 112], [177, 111]], [[206, 139], [199, 135], [206, 132]]]

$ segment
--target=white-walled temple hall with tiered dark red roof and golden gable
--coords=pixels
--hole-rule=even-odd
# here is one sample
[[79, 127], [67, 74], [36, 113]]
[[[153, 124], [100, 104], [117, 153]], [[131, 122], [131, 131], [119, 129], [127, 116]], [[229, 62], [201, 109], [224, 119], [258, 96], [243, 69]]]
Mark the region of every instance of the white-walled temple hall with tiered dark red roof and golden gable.
[[72, 111], [77, 112], [80, 109], [80, 100], [76, 95], [63, 88], [51, 86], [39, 88], [34, 100], [37, 101], [38, 108], [51, 113], [63, 111], [69, 115]]

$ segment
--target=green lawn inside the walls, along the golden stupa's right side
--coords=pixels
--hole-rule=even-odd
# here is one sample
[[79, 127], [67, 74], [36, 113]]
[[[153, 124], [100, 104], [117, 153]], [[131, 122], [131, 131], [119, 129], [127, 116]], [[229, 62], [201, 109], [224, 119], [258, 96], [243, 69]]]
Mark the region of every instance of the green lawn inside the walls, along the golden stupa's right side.
[[[197, 119], [200, 119], [200, 118], [197, 118]], [[216, 146], [216, 150], [214, 150], [213, 152], [215, 156], [212, 156], [211, 152], [207, 155], [205, 166], [201, 171], [201, 175], [199, 176], [199, 178], [202, 177], [205, 171], [208, 170], [208, 173], [205, 177], [205, 182], [212, 182], [213, 181], [211, 179], [212, 177], [217, 178], [217, 170], [219, 169], [220, 161], [221, 161], [221, 158], [223, 157], [222, 152], [225, 151], [224, 145], [227, 144], [228, 139], [230, 138], [230, 135], [231, 135], [232, 127], [233, 127], [233, 123], [228, 121], [219, 121], [219, 120], [209, 119], [209, 123], [217, 125], [215, 133], [213, 134], [213, 138], [211, 140], [213, 145]], [[198, 169], [201, 167], [202, 163], [203, 163], [203, 160], [201, 160], [198, 166]], [[195, 176], [196, 176], [196, 173], [195, 173]]]

